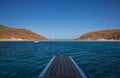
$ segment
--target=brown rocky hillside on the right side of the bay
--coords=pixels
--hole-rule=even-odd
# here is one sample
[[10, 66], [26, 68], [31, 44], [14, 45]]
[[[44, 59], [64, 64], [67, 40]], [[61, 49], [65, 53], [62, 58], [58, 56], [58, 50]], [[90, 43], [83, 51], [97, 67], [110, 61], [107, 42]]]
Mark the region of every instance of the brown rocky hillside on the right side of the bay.
[[120, 29], [89, 32], [77, 40], [120, 40]]

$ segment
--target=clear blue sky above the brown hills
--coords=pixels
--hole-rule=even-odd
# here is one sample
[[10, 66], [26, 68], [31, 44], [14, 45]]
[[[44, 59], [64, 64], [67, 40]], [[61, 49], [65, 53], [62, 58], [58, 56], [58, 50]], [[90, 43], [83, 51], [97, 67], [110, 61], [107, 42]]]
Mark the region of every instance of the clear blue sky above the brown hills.
[[48, 39], [120, 29], [120, 0], [0, 0], [0, 24]]

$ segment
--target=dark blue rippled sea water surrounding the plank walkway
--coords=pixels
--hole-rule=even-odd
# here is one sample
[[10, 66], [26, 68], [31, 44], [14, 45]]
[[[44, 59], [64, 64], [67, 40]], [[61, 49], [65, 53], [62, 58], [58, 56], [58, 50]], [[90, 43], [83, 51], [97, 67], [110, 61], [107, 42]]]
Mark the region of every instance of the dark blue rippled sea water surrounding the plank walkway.
[[120, 42], [0, 42], [0, 78], [38, 78], [55, 55], [71, 56], [90, 78], [120, 78]]

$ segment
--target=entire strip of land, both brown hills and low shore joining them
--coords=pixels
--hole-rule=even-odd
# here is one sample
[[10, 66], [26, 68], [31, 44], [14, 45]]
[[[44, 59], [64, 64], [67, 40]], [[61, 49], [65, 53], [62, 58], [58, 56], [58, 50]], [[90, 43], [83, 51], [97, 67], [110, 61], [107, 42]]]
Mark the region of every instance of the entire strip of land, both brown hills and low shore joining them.
[[89, 32], [76, 39], [48, 40], [27, 29], [0, 25], [0, 41], [120, 41], [120, 29]]

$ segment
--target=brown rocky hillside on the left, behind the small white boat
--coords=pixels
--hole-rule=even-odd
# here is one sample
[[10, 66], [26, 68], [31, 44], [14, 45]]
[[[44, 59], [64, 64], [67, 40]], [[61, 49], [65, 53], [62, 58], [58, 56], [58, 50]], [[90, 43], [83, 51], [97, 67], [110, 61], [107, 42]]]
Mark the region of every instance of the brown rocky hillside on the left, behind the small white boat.
[[46, 40], [46, 38], [30, 30], [0, 25], [0, 40]]

